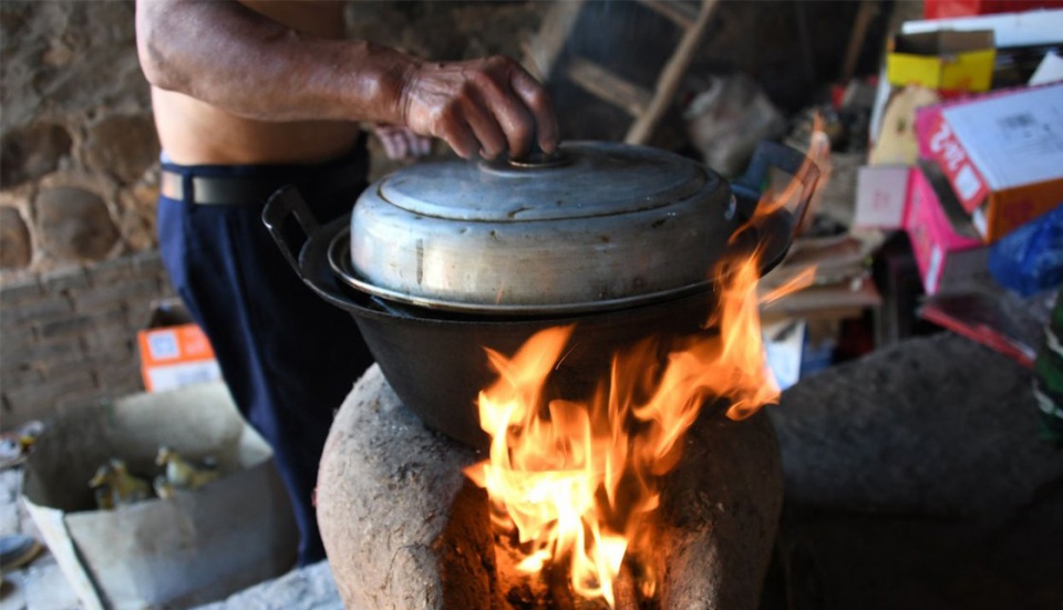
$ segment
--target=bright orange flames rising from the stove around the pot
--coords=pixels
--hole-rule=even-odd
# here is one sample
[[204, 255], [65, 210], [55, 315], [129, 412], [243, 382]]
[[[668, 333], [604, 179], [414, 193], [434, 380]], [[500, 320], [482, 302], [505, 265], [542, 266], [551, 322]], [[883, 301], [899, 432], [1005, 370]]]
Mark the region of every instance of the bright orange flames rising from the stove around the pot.
[[[750, 226], [794, 196], [788, 190], [762, 201]], [[572, 325], [538, 332], [512, 356], [486, 349], [498, 372], [478, 400], [489, 456], [466, 474], [487, 489], [496, 528], [515, 533], [527, 549], [520, 569], [566, 564], [578, 596], [615, 607], [625, 558], [652, 552], [648, 517], [660, 504], [658, 482], [679, 461], [701, 406], [723, 399], [726, 415], [741, 420], [777, 402], [761, 335], [760, 256], [724, 260], [715, 270], [719, 298], [705, 324], [719, 333], [670, 345], [648, 339], [612, 354], [609, 379], [589, 397], [551, 399], [545, 391]], [[799, 277], [767, 298], [811, 280]], [[640, 585], [653, 595], [653, 575]]]

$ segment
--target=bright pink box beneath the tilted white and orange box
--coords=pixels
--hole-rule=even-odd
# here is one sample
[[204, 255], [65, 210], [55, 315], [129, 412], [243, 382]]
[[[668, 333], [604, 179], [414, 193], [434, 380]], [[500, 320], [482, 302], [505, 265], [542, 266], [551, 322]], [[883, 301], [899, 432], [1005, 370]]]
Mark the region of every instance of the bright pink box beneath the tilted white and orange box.
[[989, 248], [952, 228], [939, 194], [919, 167], [909, 177], [905, 227], [927, 294], [989, 277]]

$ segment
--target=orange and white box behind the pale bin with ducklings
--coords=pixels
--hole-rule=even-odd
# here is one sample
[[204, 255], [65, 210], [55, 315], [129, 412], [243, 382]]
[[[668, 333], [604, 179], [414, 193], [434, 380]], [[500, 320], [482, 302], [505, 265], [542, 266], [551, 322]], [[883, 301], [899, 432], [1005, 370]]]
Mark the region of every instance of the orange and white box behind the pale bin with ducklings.
[[176, 390], [221, 379], [221, 370], [203, 329], [179, 300], [152, 306], [145, 330], [137, 333], [141, 375], [148, 392]]

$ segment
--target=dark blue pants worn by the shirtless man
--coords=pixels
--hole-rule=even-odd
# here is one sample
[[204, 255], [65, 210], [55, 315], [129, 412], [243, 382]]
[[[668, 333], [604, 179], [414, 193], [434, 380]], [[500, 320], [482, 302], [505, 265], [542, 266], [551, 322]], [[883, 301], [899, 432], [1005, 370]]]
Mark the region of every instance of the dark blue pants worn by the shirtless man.
[[[163, 167], [186, 185], [192, 176], [239, 177], [257, 187], [251, 192], [293, 184], [326, 223], [351, 210], [367, 186], [367, 158], [362, 139], [350, 155], [319, 165]], [[351, 172], [359, 174], [347, 179]], [[163, 261], [237, 406], [274, 449], [301, 535], [299, 565], [318, 561], [321, 451], [332, 414], [372, 356], [351, 316], [314, 294], [285, 260], [262, 224], [265, 199], [200, 205], [193, 197], [159, 197]]]

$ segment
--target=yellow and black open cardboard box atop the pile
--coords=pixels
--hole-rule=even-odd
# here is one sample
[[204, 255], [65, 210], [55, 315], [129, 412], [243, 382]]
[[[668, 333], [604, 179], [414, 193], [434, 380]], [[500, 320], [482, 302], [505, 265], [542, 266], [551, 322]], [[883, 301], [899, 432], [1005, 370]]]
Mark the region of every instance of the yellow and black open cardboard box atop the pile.
[[900, 33], [890, 41], [886, 75], [897, 86], [936, 91], [989, 91], [997, 49], [992, 30]]

